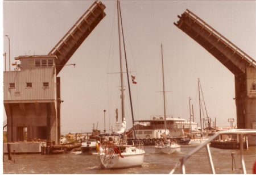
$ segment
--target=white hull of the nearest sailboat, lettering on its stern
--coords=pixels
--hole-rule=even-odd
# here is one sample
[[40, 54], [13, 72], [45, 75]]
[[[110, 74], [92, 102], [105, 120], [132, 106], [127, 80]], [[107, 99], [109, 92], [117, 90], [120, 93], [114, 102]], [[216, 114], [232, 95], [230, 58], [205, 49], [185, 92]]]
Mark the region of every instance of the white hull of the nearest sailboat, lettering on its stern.
[[105, 154], [100, 153], [98, 160], [100, 162], [101, 169], [119, 169], [119, 168], [131, 168], [136, 166], [142, 166], [144, 161], [145, 152], [142, 149], [134, 148], [134, 152], [123, 152], [119, 154]]

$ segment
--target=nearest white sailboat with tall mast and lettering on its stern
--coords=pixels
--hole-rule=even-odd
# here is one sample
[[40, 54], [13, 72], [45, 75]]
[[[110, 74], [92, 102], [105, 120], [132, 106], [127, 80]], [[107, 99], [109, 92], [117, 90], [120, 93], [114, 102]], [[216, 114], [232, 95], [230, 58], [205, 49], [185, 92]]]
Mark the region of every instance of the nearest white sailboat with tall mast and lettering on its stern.
[[[144, 161], [145, 151], [143, 150], [143, 143], [138, 141], [133, 145], [127, 144], [127, 137], [125, 134], [126, 120], [124, 118], [124, 95], [123, 95], [123, 71], [122, 71], [122, 56], [121, 56], [121, 33], [120, 33], [120, 5], [117, 1], [117, 16], [118, 16], [118, 32], [119, 32], [119, 59], [120, 59], [120, 73], [121, 73], [121, 99], [122, 99], [122, 128], [121, 130], [110, 133], [101, 134], [104, 137], [105, 147], [102, 146], [98, 153], [98, 161], [101, 169], [119, 169], [142, 166]], [[129, 81], [129, 80], [128, 80]], [[134, 123], [134, 121], [133, 121]]]

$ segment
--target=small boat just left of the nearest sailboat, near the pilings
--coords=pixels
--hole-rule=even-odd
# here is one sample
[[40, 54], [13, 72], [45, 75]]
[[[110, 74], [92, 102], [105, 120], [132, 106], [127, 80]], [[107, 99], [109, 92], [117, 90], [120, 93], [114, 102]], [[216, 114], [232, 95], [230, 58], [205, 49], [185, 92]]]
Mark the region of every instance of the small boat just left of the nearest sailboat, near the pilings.
[[88, 139], [85, 142], [82, 142], [81, 152], [86, 155], [97, 155], [98, 154], [98, 143], [100, 141], [96, 141], [96, 139]]

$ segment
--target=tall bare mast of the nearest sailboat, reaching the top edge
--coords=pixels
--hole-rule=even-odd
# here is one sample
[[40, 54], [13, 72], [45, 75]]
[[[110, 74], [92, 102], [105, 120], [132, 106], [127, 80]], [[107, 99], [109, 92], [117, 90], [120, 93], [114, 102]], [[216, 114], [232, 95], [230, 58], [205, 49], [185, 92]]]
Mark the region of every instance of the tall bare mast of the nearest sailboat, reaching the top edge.
[[117, 20], [118, 20], [118, 38], [119, 38], [119, 59], [120, 59], [120, 72], [121, 72], [121, 101], [122, 101], [122, 122], [125, 118], [125, 102], [123, 98], [123, 68], [122, 68], [122, 53], [121, 53], [121, 32], [120, 32], [120, 9], [119, 1], [117, 1]]

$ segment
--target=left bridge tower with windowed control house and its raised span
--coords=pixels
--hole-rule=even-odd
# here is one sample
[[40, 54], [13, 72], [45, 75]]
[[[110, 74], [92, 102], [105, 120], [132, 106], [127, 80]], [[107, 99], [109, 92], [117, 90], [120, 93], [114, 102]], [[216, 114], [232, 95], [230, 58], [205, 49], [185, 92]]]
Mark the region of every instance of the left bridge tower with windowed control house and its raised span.
[[106, 16], [96, 1], [48, 55], [19, 56], [19, 69], [3, 73], [7, 141], [40, 139], [60, 144], [60, 77], [57, 74]]

